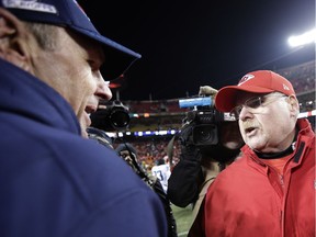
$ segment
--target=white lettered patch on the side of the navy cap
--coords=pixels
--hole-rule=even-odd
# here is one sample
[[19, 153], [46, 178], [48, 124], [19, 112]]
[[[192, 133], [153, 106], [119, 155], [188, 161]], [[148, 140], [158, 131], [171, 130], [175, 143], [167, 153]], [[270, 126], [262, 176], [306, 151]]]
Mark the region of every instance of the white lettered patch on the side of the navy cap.
[[5, 8], [23, 9], [38, 12], [57, 13], [57, 10], [52, 4], [41, 3], [37, 0], [2, 0]]

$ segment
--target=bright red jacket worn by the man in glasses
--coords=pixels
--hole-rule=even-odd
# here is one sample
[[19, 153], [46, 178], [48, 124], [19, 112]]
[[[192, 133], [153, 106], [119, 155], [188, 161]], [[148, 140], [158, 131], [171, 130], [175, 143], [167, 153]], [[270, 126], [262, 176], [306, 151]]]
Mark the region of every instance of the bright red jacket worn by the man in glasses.
[[283, 177], [247, 145], [217, 176], [205, 199], [205, 236], [315, 237], [315, 133], [306, 119], [297, 125]]

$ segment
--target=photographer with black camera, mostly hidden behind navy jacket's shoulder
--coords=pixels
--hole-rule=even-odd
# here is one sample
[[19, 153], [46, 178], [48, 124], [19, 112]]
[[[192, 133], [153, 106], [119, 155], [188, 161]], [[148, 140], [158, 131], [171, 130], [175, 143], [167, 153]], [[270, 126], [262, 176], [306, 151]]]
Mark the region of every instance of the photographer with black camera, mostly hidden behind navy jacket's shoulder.
[[165, 193], [159, 179], [150, 176], [143, 169], [138, 162], [137, 150], [132, 144], [122, 140], [115, 148], [114, 142], [106, 134], [106, 132], [120, 132], [127, 128], [129, 124], [128, 108], [121, 101], [113, 101], [112, 104], [108, 105], [101, 102], [99, 109], [92, 113], [90, 117], [91, 126], [87, 128], [88, 137], [115, 150], [133, 171], [158, 195], [166, 213], [168, 237], [177, 237], [177, 224], [171, 210], [171, 203]]

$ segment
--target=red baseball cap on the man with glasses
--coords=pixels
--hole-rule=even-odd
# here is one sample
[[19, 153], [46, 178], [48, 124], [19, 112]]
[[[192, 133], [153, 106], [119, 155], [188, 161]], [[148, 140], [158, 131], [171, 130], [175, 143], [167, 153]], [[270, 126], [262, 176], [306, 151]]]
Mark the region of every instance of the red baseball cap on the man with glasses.
[[230, 112], [237, 104], [240, 92], [295, 94], [292, 83], [271, 70], [258, 70], [245, 75], [237, 86], [227, 86], [215, 95], [215, 106], [218, 111]]

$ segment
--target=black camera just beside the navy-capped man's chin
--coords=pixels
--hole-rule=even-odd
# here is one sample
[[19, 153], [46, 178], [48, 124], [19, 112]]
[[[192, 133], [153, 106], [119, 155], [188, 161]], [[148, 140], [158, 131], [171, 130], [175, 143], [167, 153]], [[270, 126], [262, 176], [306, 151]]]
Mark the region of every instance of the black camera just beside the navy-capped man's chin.
[[[102, 108], [104, 106], [104, 109]], [[91, 126], [105, 132], [120, 132], [127, 128], [131, 117], [128, 108], [121, 101], [101, 104], [99, 109], [90, 115]]]

